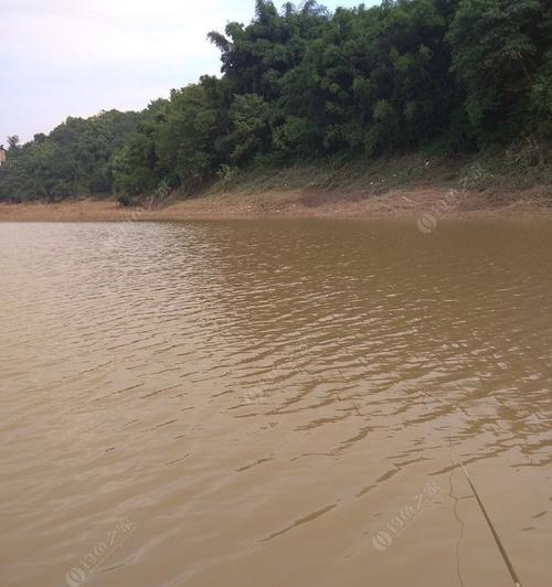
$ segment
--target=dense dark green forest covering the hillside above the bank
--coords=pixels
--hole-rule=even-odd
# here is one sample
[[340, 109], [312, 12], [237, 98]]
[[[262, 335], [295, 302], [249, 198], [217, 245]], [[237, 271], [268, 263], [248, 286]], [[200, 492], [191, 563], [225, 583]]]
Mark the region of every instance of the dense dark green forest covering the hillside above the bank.
[[203, 76], [142, 113], [68, 118], [9, 138], [0, 199], [192, 193], [257, 168], [416, 149], [440, 154], [552, 136], [550, 0], [384, 0], [279, 11], [209, 40]]

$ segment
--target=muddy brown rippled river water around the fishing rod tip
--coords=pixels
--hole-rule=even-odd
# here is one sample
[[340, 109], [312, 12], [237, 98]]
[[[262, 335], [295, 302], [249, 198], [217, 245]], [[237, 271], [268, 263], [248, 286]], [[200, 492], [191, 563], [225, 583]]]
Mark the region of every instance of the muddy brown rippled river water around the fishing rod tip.
[[552, 225], [0, 224], [0, 584], [552, 585]]

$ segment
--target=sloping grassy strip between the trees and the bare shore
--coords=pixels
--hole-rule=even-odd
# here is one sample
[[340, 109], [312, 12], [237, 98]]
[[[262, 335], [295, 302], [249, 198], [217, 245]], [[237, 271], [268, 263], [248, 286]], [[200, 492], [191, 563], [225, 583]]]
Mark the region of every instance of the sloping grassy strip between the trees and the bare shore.
[[[508, 149], [492, 149], [471, 156], [413, 154], [375, 160], [314, 161], [287, 168], [253, 167], [245, 171], [225, 169], [202, 195], [255, 194], [295, 190], [361, 191], [383, 194], [390, 189], [436, 186], [480, 192], [512, 191], [552, 185], [552, 156], [549, 145], [520, 140]], [[550, 193], [552, 200], [552, 193]]]

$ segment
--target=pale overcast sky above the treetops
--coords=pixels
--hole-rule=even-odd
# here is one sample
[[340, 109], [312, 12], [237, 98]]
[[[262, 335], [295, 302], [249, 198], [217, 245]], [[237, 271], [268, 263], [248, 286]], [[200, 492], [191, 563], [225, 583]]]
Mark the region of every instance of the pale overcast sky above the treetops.
[[0, 0], [0, 142], [49, 132], [68, 115], [141, 109], [217, 74], [206, 33], [253, 12], [254, 0]]

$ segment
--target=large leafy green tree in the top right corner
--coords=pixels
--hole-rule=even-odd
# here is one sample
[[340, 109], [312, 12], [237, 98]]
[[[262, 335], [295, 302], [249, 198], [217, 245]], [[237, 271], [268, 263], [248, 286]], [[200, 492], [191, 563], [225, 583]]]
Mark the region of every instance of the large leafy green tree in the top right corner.
[[447, 41], [481, 143], [550, 124], [551, 25], [548, 0], [460, 0]]

